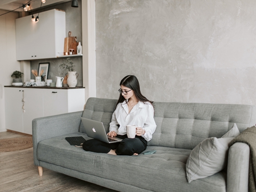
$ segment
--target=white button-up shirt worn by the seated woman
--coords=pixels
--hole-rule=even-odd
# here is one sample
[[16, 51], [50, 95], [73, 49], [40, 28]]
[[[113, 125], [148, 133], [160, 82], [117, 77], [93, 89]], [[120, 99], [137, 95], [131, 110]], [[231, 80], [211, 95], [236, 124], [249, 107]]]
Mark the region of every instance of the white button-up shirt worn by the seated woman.
[[[118, 128], [118, 125], [119, 128]], [[126, 134], [126, 125], [136, 125], [145, 130], [145, 134], [141, 137], [146, 141], [152, 139], [152, 134], [156, 130], [156, 123], [154, 120], [154, 108], [149, 102], [139, 101], [129, 113], [127, 103], [118, 103], [116, 110], [113, 113], [112, 120], [109, 127], [110, 131], [115, 131], [119, 135]]]

